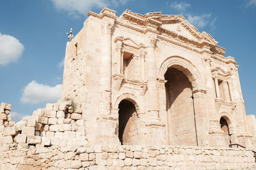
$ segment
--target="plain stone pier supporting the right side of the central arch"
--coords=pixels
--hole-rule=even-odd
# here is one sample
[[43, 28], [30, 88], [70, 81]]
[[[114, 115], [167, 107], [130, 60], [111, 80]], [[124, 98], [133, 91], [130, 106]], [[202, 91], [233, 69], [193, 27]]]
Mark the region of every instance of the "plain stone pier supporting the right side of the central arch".
[[205, 104], [205, 90], [193, 91], [193, 104], [195, 111], [195, 130], [198, 146], [207, 146], [207, 105]]

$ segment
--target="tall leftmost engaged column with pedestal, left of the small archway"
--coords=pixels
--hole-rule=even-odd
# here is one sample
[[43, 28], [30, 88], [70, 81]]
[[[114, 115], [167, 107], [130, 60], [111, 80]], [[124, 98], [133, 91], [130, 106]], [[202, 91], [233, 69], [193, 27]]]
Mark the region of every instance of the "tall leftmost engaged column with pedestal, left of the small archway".
[[93, 145], [118, 145], [118, 113], [111, 113], [111, 32], [110, 22], [102, 24], [102, 57], [100, 65], [100, 103]]

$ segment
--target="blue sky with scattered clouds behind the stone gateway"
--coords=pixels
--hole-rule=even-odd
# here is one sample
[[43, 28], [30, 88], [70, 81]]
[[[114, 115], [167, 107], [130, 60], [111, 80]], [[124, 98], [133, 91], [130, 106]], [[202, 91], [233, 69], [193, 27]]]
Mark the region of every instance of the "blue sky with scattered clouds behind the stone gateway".
[[[205, 3], [207, 2], [207, 3]], [[87, 11], [104, 6], [120, 16], [129, 9], [145, 14], [182, 14], [235, 57], [246, 114], [256, 113], [256, 0], [147, 1], [147, 0], [1, 0], [0, 102], [12, 104], [17, 121], [60, 98], [66, 32], [76, 34]]]

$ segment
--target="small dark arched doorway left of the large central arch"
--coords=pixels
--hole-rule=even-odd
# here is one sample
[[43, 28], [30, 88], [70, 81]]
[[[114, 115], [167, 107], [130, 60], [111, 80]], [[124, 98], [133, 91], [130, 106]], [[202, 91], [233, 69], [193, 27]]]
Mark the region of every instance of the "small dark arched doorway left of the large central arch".
[[121, 145], [136, 145], [138, 141], [136, 108], [126, 99], [118, 104], [118, 138]]

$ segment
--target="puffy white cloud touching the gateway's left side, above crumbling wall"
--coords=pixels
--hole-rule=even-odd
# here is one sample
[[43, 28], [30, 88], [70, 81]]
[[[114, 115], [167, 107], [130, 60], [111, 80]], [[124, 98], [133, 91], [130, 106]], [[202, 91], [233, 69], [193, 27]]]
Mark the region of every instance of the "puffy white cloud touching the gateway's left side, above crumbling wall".
[[62, 85], [50, 87], [49, 85], [36, 83], [35, 80], [31, 81], [22, 90], [22, 103], [51, 103], [55, 102], [61, 97]]

